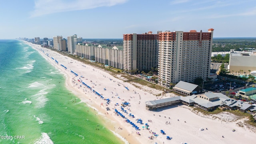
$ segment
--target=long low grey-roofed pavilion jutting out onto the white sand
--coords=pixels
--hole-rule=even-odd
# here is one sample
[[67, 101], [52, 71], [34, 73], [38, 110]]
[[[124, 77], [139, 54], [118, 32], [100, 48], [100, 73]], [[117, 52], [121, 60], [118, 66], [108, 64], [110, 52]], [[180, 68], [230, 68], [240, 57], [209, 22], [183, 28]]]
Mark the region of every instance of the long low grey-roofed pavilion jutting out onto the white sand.
[[145, 104], [146, 104], [146, 110], [156, 110], [156, 108], [169, 106], [172, 104], [178, 104], [180, 102], [181, 102], [180, 96], [175, 96], [175, 97], [164, 98], [160, 100], [147, 101], [145, 102]]

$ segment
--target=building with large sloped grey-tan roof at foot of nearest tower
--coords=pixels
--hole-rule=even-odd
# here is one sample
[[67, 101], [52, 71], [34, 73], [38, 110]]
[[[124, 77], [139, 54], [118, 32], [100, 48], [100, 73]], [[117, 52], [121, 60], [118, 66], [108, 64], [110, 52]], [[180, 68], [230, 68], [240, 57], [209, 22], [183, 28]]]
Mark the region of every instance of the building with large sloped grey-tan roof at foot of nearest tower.
[[172, 90], [184, 96], [191, 96], [193, 94], [200, 94], [202, 92], [202, 88], [200, 86], [183, 81], [178, 82], [178, 84], [176, 84]]

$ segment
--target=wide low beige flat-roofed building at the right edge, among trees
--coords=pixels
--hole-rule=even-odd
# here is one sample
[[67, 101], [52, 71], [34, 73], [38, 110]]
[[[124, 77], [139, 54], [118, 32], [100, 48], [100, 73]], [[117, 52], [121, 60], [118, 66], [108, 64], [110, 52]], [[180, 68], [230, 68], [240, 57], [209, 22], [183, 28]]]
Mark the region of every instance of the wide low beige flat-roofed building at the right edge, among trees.
[[230, 72], [251, 74], [256, 71], [256, 52], [235, 52], [230, 50], [228, 69]]

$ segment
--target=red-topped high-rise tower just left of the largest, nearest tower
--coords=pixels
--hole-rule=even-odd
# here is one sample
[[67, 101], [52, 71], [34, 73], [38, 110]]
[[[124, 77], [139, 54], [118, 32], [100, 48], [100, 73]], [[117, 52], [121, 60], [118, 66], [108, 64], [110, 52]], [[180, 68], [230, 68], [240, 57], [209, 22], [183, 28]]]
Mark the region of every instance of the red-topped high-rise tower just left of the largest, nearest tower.
[[158, 65], [158, 34], [123, 35], [123, 69], [151, 70]]

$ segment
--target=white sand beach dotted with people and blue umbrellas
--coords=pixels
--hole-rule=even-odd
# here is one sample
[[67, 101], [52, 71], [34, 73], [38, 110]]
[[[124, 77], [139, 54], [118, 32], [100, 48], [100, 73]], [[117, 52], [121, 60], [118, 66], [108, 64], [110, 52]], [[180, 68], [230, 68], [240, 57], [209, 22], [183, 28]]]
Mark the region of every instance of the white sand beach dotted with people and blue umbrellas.
[[[236, 116], [229, 114], [228, 112], [222, 112], [216, 116], [206, 117], [204, 115], [193, 113], [188, 106], [184, 105], [159, 108], [158, 111], [148, 111], [146, 110], [145, 102], [161, 98], [161, 96], [156, 97], [154, 95], [159, 94], [160, 91], [152, 90], [145, 86], [142, 86], [142, 89], [136, 88], [128, 82], [123, 82], [123, 80], [114, 78], [104, 70], [83, 64], [82, 62], [73, 60], [47, 48], [42, 48], [39, 45], [31, 43], [27, 44], [38, 50], [46, 60], [60, 70], [66, 76], [67, 88], [78, 96], [82, 102], [91, 106], [92, 110], [97, 110], [97, 114], [100, 118], [104, 119], [106, 127], [125, 138], [126, 143], [255, 143], [254, 138], [256, 137], [256, 130], [248, 128], [243, 124], [244, 120], [239, 120]], [[42, 52], [42, 50], [44, 50], [44, 52]], [[46, 54], [48, 54], [48, 56], [46, 56]], [[54, 58], [54, 60], [52, 58]], [[55, 60], [58, 61], [58, 64]], [[61, 64], [67, 69], [61, 66]], [[71, 70], [78, 74], [78, 76], [75, 76]], [[78, 80], [80, 80], [80, 82]], [[84, 86], [81, 81], [92, 87], [92, 90], [101, 94], [104, 99], [109, 98], [111, 100], [110, 104], [107, 104], [106, 100], [100, 98], [100, 96], [95, 94], [92, 90]], [[104, 90], [104, 88], [106, 88], [106, 90]], [[168, 98], [170, 96], [175, 95], [167, 94], [162, 98]], [[128, 113], [124, 113], [120, 108], [122, 102], [125, 101], [130, 103], [130, 106], [124, 107], [124, 110]], [[106, 110], [107, 107], [110, 108], [109, 111]], [[140, 130], [136, 130], [130, 123], [125, 122], [125, 118], [117, 116], [114, 109], [117, 109], [126, 118], [136, 124]], [[129, 116], [130, 113], [134, 115], [135, 118]], [[144, 124], [138, 124], [136, 119], [142, 119]], [[148, 120], [152, 122], [149, 122]], [[238, 122], [243, 127], [238, 126]], [[149, 130], [142, 128], [146, 123], [149, 125]], [[200, 128], [204, 128], [204, 130], [199, 130]], [[208, 130], [206, 130], [206, 128]], [[236, 131], [232, 132], [233, 129]], [[160, 130], [163, 130], [166, 134], [161, 134]], [[138, 135], [137, 132], [139, 132], [140, 135]], [[158, 136], [154, 136], [152, 132], [155, 132]], [[149, 138], [151, 136], [153, 136], [152, 139]], [[167, 140], [166, 136], [170, 136], [172, 139]], [[224, 138], [222, 136], [224, 136]]]

